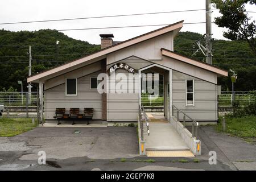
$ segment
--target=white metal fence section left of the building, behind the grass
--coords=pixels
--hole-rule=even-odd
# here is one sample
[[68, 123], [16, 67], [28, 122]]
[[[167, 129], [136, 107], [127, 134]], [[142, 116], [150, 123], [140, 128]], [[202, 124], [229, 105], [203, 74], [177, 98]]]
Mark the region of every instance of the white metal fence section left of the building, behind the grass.
[[38, 117], [38, 93], [0, 92], [0, 106], [5, 117]]

